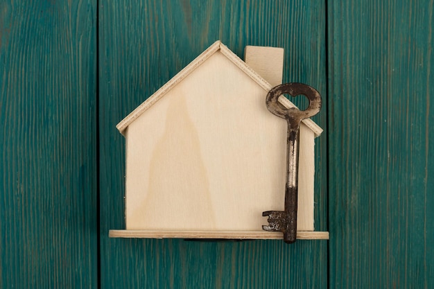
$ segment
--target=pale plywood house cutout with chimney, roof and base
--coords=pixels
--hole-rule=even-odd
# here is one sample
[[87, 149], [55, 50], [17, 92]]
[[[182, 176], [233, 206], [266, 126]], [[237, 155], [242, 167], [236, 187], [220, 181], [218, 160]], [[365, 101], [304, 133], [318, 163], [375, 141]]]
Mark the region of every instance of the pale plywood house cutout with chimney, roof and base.
[[[110, 236], [282, 238], [261, 226], [263, 211], [284, 209], [287, 125], [266, 107], [283, 53], [248, 46], [246, 63], [217, 41], [116, 126], [126, 139], [126, 230]], [[303, 121], [297, 238], [328, 236], [313, 231], [321, 132]]]

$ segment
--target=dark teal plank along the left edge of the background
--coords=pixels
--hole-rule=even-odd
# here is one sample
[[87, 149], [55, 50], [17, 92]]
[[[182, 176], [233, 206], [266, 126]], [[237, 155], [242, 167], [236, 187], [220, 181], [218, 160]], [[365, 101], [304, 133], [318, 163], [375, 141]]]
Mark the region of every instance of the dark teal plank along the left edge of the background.
[[96, 2], [1, 1], [0, 288], [96, 288]]

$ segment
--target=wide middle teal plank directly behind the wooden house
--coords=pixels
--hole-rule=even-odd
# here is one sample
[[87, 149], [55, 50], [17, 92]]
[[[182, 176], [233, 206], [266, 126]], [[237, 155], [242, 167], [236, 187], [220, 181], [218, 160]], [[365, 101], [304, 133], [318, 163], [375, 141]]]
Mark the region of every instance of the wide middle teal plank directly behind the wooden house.
[[[125, 139], [115, 125], [216, 40], [286, 49], [284, 80], [325, 97], [322, 1], [107, 1], [99, 7], [102, 288], [324, 288], [327, 241], [110, 239], [123, 229]], [[326, 126], [327, 105], [315, 121]], [[326, 132], [327, 133], [327, 132]], [[327, 146], [316, 146], [316, 227], [327, 230]]]

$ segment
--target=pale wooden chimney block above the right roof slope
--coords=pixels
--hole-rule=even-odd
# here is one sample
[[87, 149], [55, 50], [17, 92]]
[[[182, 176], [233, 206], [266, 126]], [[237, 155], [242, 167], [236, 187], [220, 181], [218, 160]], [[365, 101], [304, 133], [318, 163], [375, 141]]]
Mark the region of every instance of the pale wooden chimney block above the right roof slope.
[[284, 49], [269, 46], [245, 46], [244, 62], [272, 87], [281, 85], [284, 71]]

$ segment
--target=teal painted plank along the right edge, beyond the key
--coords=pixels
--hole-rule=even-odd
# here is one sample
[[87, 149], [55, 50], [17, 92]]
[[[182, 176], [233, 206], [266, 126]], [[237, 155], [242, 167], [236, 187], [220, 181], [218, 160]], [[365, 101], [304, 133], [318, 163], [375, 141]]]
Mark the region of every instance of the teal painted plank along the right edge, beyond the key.
[[330, 288], [434, 288], [433, 0], [329, 24]]

